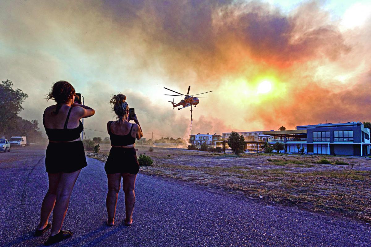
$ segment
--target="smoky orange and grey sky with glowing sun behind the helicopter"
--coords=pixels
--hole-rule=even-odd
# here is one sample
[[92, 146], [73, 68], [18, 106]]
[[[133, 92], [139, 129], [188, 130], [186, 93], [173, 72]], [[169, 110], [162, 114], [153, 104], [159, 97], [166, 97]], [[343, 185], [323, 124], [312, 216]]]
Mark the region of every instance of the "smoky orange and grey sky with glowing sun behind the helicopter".
[[192, 134], [370, 121], [370, 40], [369, 1], [0, 1], [0, 79], [28, 94], [21, 117], [42, 123], [67, 80], [96, 110], [86, 128], [106, 130], [121, 92], [154, 138], [190, 125], [163, 87], [213, 91]]

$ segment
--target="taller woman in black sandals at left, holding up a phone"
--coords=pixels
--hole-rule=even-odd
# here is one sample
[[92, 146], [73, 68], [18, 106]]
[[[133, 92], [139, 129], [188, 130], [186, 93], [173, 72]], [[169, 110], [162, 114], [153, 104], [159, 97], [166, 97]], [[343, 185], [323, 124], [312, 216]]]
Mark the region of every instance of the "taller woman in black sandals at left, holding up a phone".
[[49, 190], [41, 206], [40, 224], [35, 236], [40, 236], [50, 228], [48, 218], [54, 209], [52, 230], [45, 243], [47, 245], [72, 236], [72, 232], [60, 228], [73, 186], [81, 169], [87, 165], [80, 138], [83, 130], [80, 119], [93, 116], [95, 111], [75, 103], [75, 96], [75, 89], [67, 81], [54, 83], [47, 100], [54, 99], [57, 104], [47, 107], [43, 115], [43, 124], [49, 138], [45, 157]]

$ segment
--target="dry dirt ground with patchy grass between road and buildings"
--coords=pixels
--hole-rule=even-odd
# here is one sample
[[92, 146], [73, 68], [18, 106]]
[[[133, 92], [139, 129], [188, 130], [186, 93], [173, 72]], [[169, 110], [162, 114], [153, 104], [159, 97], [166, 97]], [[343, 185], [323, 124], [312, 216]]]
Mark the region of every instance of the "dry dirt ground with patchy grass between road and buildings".
[[[89, 157], [106, 160], [109, 144]], [[371, 222], [371, 158], [327, 155], [209, 153], [176, 148], [138, 148], [154, 160], [141, 173], [174, 178], [331, 215]], [[325, 160], [322, 160], [325, 159]], [[322, 161], [321, 161], [322, 160]], [[319, 164], [316, 162], [330, 164]]]

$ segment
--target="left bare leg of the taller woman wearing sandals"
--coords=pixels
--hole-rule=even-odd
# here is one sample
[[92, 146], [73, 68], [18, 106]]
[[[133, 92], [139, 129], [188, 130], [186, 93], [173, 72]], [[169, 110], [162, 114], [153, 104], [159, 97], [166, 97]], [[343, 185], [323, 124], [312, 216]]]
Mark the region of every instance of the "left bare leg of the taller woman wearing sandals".
[[47, 220], [49, 219], [50, 213], [54, 208], [55, 200], [57, 198], [57, 187], [61, 174], [62, 173], [48, 173], [49, 189], [46, 192], [43, 203], [41, 205], [40, 224], [37, 227], [37, 230], [42, 230], [47, 225]]

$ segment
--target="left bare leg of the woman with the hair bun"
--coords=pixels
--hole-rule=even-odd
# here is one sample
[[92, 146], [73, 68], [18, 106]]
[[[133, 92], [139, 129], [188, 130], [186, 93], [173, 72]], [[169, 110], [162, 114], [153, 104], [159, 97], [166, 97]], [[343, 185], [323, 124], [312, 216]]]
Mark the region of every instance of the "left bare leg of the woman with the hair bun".
[[107, 224], [113, 226], [115, 223], [115, 213], [117, 204], [117, 194], [120, 191], [121, 173], [107, 174], [108, 193], [106, 197], [106, 207], [108, 213]]

